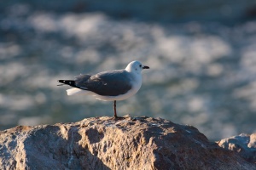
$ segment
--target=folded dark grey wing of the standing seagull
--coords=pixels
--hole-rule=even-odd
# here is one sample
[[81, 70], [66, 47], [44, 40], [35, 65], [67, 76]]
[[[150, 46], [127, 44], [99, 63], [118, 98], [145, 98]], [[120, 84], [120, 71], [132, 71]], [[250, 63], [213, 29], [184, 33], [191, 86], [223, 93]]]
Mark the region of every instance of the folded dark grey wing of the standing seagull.
[[103, 96], [125, 94], [131, 89], [131, 75], [124, 70], [104, 71], [94, 76], [80, 75], [76, 86]]

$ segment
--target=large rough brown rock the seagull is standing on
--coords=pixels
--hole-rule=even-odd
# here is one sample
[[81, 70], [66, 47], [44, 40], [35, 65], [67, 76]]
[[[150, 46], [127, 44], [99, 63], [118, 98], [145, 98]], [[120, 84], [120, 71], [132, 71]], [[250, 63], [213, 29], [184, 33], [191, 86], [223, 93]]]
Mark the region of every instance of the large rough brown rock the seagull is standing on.
[[0, 169], [256, 169], [195, 127], [93, 117], [0, 132]]

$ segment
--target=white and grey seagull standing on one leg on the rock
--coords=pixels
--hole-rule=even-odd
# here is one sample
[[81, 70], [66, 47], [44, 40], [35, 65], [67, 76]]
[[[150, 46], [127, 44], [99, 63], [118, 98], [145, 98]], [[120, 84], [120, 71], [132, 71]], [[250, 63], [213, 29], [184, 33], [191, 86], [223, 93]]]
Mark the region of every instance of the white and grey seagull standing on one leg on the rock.
[[142, 86], [142, 71], [149, 69], [140, 61], [131, 61], [125, 69], [102, 71], [96, 75], [80, 74], [74, 80], [58, 80], [58, 86], [69, 85], [67, 95], [86, 94], [103, 101], [113, 101], [113, 116], [116, 113], [116, 101], [128, 99]]

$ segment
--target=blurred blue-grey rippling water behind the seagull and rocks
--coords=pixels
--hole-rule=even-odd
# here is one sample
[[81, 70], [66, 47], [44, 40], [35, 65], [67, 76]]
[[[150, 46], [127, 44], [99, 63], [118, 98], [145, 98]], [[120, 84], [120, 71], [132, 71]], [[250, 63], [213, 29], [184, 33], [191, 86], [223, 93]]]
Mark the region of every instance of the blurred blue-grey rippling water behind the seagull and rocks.
[[58, 79], [140, 60], [119, 116], [162, 117], [208, 139], [256, 133], [255, 0], [0, 1], [0, 130], [113, 116]]

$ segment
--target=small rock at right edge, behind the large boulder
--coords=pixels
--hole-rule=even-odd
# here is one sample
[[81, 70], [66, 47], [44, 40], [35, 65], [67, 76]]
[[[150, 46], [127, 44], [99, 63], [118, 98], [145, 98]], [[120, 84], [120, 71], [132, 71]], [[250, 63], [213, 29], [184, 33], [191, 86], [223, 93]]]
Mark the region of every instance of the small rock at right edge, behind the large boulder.
[[218, 141], [218, 145], [224, 149], [236, 151], [245, 160], [256, 164], [256, 133], [241, 133]]

